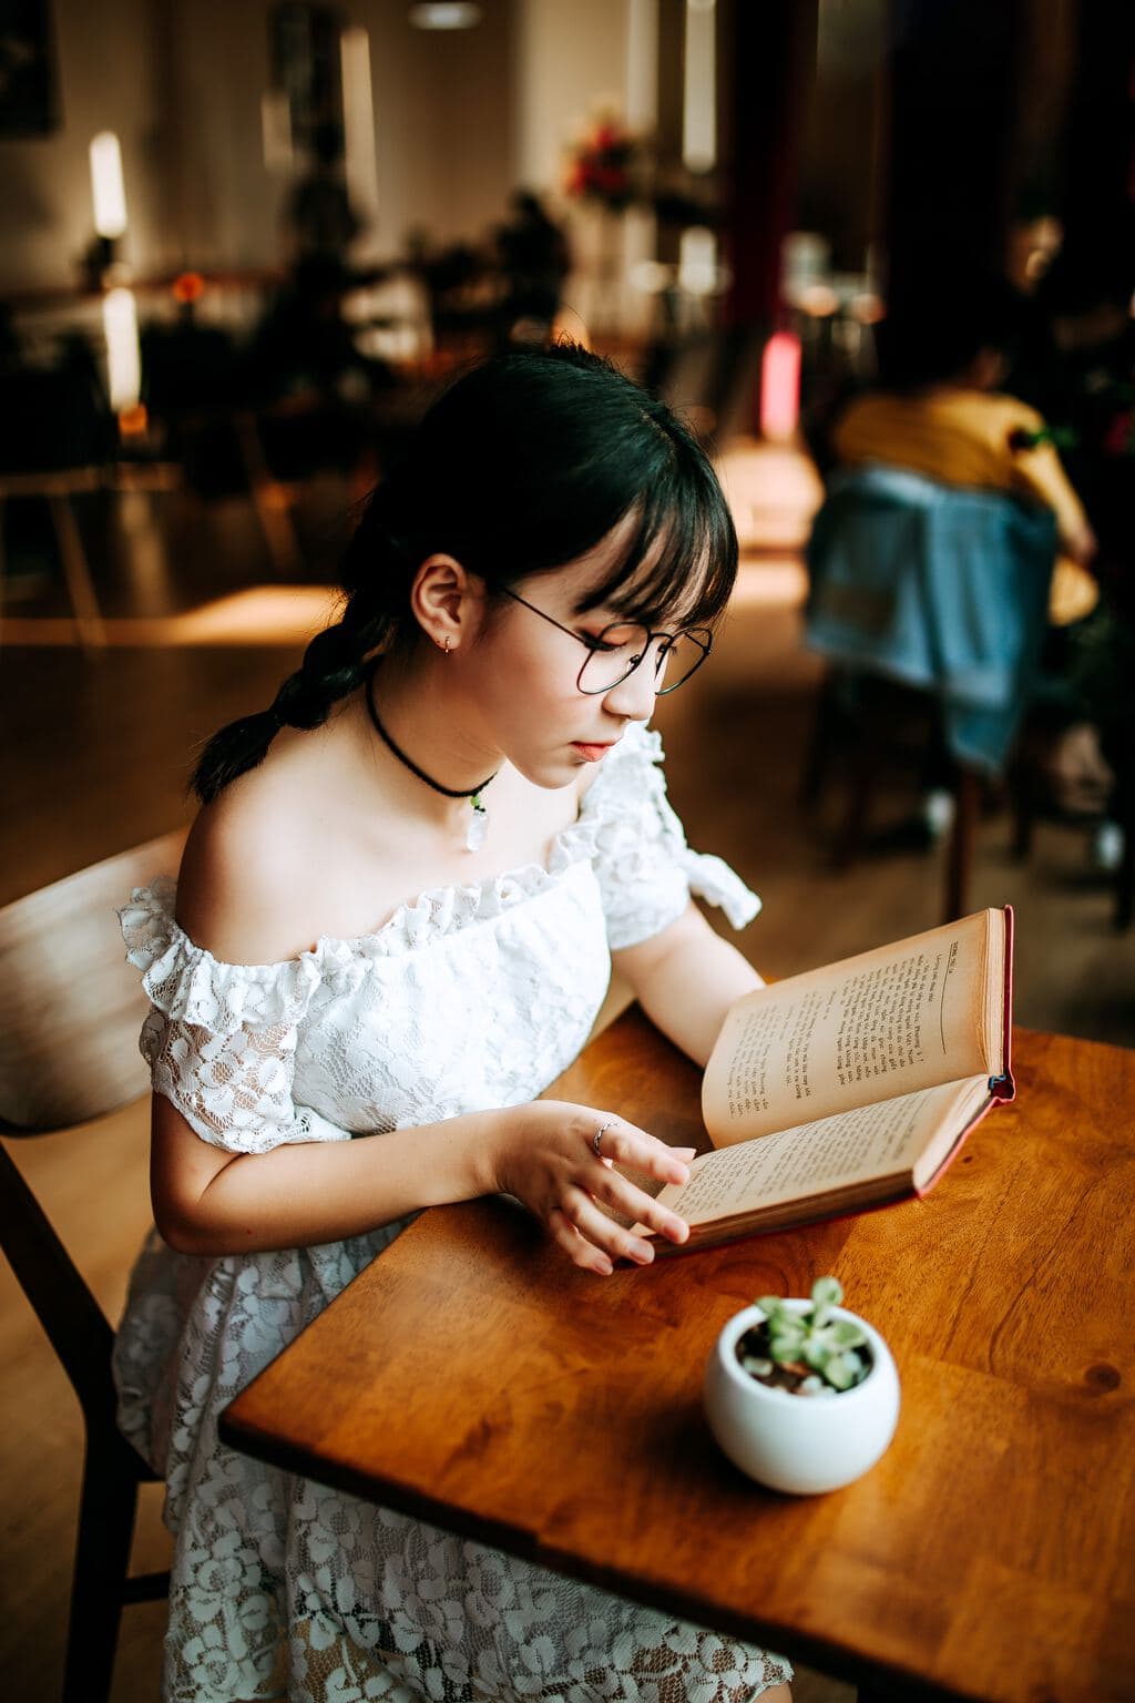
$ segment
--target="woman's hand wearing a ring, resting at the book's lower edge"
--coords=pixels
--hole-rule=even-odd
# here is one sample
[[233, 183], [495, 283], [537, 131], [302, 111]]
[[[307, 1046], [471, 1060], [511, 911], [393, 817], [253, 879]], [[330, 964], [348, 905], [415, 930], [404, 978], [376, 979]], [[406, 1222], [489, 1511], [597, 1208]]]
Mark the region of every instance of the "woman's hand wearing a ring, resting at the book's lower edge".
[[[499, 1117], [497, 1190], [522, 1201], [575, 1265], [609, 1277], [618, 1259], [638, 1265], [653, 1259], [653, 1247], [616, 1224], [602, 1207], [669, 1241], [686, 1241], [686, 1221], [614, 1167], [684, 1184], [689, 1178], [686, 1160], [696, 1148], [669, 1148], [621, 1117], [567, 1100], [534, 1100], [509, 1107]], [[596, 1153], [599, 1129], [602, 1139]]]

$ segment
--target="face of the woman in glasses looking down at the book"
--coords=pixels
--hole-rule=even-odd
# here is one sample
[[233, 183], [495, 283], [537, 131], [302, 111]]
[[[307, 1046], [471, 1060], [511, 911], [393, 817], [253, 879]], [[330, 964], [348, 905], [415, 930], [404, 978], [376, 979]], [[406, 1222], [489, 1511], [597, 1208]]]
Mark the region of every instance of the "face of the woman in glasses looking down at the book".
[[582, 640], [625, 618], [604, 605], [577, 613], [579, 605], [602, 584], [633, 525], [633, 518], [621, 521], [567, 567], [517, 581], [512, 591], [533, 608], [505, 598], [485, 610], [480, 635], [463, 659], [482, 736], [538, 787], [567, 787], [580, 770], [604, 760], [630, 722], [653, 712], [653, 657], [609, 691], [584, 693], [577, 686], [587, 661]]

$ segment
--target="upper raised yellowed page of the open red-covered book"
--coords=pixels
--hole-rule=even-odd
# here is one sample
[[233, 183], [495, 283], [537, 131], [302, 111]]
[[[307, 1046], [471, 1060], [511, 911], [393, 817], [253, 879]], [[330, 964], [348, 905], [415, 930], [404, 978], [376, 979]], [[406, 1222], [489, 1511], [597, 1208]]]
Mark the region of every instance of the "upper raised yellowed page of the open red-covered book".
[[999, 1075], [1001, 1042], [987, 1046], [985, 1032], [999, 1037], [990, 1008], [1002, 998], [1004, 926], [1002, 911], [978, 911], [744, 995], [703, 1081], [715, 1146]]

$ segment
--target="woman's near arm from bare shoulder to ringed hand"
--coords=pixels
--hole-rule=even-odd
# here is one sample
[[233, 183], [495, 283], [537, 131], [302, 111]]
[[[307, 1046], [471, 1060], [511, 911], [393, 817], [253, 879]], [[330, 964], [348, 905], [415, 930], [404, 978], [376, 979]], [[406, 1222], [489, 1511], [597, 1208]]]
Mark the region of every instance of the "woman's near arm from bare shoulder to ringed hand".
[[[201, 949], [226, 964], [271, 964], [318, 933], [325, 896], [310, 874], [320, 869], [318, 845], [305, 846], [267, 783], [243, 780], [220, 807], [197, 817], [179, 879], [179, 920]], [[281, 1141], [279, 1131], [293, 1122], [284, 1037], [265, 1030], [243, 1051], [233, 1039], [235, 1058], [272, 1047], [281, 1049], [281, 1069], [267, 1073], [272, 1105], [265, 1134], [276, 1134], [277, 1144], [262, 1141], [267, 1151], [213, 1146], [174, 1104], [177, 1083], [155, 1093], [155, 1219], [182, 1252], [311, 1247], [482, 1194], [514, 1194], [577, 1265], [599, 1272], [609, 1272], [614, 1259], [645, 1264], [653, 1250], [596, 1202], [674, 1241], [687, 1235], [681, 1218], [609, 1163], [686, 1182], [681, 1156], [621, 1119], [604, 1134], [597, 1156], [592, 1138], [609, 1114], [594, 1107], [538, 1100], [354, 1141]], [[211, 1059], [209, 1068], [216, 1066]]]

